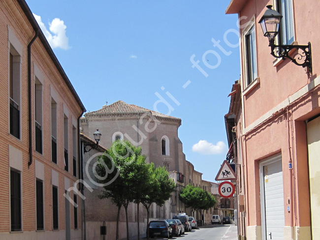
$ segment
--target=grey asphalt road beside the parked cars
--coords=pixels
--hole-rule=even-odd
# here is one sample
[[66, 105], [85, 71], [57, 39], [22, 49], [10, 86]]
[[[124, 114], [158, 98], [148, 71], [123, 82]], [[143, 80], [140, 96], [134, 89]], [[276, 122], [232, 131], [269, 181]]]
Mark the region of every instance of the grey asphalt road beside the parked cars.
[[[219, 225], [209, 228], [192, 229], [192, 232], [186, 232], [185, 235], [172, 237], [170, 240], [236, 240], [233, 236], [227, 236], [230, 232], [230, 225]], [[231, 225], [231, 227], [235, 227]], [[166, 238], [167, 239], [167, 238]], [[161, 240], [159, 238], [158, 240]]]

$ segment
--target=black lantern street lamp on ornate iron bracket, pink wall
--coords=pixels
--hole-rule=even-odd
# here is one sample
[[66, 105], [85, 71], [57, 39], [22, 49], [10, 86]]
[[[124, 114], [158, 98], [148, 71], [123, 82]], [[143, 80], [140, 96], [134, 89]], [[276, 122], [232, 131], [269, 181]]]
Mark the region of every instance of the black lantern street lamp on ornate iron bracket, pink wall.
[[[311, 43], [308, 45], [275, 45], [275, 37], [279, 33], [279, 26], [283, 16], [272, 9], [272, 5], [267, 5], [267, 10], [261, 17], [259, 24], [261, 25], [263, 35], [268, 37], [269, 46], [271, 47], [271, 55], [275, 58], [290, 59], [298, 66], [307, 67], [309, 73], [312, 73], [311, 60]], [[291, 50], [298, 50], [295, 54], [290, 54]], [[300, 50], [300, 51], [299, 51]]]

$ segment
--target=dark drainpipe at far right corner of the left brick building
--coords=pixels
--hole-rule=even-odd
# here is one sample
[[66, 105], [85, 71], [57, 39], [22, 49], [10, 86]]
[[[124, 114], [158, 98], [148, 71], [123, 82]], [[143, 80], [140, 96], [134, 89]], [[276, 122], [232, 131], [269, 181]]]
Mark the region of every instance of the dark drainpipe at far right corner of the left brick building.
[[[83, 115], [83, 111], [80, 114], [80, 116], [78, 117], [77, 120], [77, 124], [78, 124], [78, 156], [79, 156], [79, 179], [81, 179], [83, 181], [83, 150], [82, 150], [82, 141], [80, 140], [80, 118]], [[79, 184], [79, 190], [81, 191], [81, 194], [84, 196], [84, 188], [83, 188], [83, 184], [82, 181]], [[82, 199], [82, 219], [83, 221], [81, 221], [81, 225], [82, 225], [82, 229], [81, 229], [81, 239], [86, 240], [86, 214], [85, 214], [85, 201], [84, 199]], [[84, 236], [83, 236], [84, 235]]]

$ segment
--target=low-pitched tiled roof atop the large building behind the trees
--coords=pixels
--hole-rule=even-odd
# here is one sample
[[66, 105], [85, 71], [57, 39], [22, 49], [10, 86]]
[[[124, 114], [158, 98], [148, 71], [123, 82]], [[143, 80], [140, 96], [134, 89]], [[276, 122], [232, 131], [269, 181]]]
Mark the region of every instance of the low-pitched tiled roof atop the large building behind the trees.
[[125, 103], [124, 101], [117, 101], [108, 106], [103, 106], [101, 109], [86, 113], [86, 116], [92, 115], [104, 115], [104, 114], [143, 114], [143, 113], [151, 113], [155, 117], [167, 118], [172, 120], [181, 120], [179, 118], [167, 116], [146, 108], [142, 108], [133, 104]]

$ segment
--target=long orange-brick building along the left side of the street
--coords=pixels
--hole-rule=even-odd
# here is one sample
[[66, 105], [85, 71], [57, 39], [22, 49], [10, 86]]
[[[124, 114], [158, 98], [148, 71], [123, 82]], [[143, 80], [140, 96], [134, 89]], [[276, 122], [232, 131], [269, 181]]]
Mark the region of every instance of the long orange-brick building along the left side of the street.
[[81, 239], [85, 111], [24, 0], [0, 1], [0, 239]]

